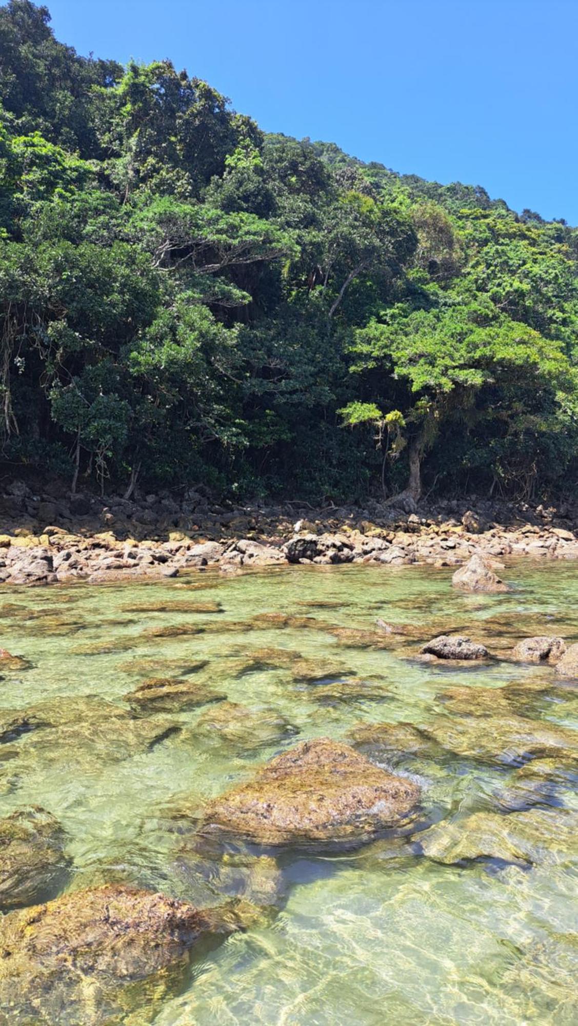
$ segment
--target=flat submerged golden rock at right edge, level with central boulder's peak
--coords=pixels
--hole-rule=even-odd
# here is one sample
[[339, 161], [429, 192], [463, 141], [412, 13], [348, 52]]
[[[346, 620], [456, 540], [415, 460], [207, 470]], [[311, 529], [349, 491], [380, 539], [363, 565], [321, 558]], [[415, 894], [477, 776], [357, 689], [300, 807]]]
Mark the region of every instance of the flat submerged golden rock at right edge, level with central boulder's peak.
[[422, 727], [425, 737], [456, 755], [521, 765], [530, 759], [578, 759], [578, 735], [568, 727], [503, 712], [498, 716], [438, 717]]

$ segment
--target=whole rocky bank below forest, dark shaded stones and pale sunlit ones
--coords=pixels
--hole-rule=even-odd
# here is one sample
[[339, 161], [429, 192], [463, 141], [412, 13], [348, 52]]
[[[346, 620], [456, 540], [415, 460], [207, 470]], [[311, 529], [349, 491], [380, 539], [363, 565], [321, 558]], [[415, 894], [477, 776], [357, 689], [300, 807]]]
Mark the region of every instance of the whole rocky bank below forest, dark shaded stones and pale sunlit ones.
[[[57, 491], [56, 488], [53, 489]], [[216, 504], [203, 488], [133, 500], [35, 492], [0, 495], [0, 583], [43, 585], [177, 577], [286, 563], [431, 563], [490, 558], [578, 558], [578, 506], [440, 502], [411, 511], [377, 502], [314, 510]]]

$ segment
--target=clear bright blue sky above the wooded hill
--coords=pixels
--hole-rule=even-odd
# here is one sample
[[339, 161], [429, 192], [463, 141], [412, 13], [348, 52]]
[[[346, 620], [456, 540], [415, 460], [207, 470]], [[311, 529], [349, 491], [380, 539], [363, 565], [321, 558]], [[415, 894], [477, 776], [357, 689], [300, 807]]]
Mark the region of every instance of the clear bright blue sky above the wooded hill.
[[170, 57], [266, 131], [578, 224], [578, 0], [45, 0], [58, 39]]

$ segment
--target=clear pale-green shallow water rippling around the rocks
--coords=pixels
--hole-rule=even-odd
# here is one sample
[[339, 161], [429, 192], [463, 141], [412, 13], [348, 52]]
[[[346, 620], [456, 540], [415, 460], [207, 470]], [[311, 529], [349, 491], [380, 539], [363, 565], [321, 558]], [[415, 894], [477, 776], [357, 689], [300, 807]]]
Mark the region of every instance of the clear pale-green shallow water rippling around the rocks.
[[[251, 732], [243, 734], [241, 715], [237, 735], [219, 739], [195, 728], [207, 710], [218, 709], [205, 705], [185, 713], [152, 714], [149, 720], [177, 724], [180, 732], [163, 740], [159, 725], [157, 743], [132, 739], [121, 752], [122, 724], [113, 723], [109, 732], [100, 723], [98, 743], [91, 744], [90, 729], [83, 729], [88, 720], [82, 703], [69, 701], [70, 722], [60, 731], [40, 729], [0, 746], [2, 816], [34, 803], [59, 820], [74, 860], [70, 887], [129, 879], [204, 904], [216, 904], [221, 892], [238, 894], [220, 871], [221, 863], [206, 863], [206, 872], [197, 863], [194, 870], [183, 870], [182, 845], [190, 845], [195, 817], [207, 798], [247, 779], [296, 740], [347, 740], [361, 723], [427, 727], [440, 716], [457, 721], [460, 714], [437, 698], [445, 688], [465, 686], [473, 695], [479, 688], [546, 678], [552, 689], [513, 712], [523, 712], [534, 725], [576, 727], [576, 692], [571, 685], [556, 688], [550, 668], [503, 661], [449, 668], [408, 658], [419, 647], [420, 631], [425, 639], [460, 630], [494, 652], [506, 652], [532, 634], [578, 639], [578, 567], [519, 562], [505, 576], [517, 590], [490, 596], [453, 591], [450, 571], [369, 566], [3, 590], [0, 644], [33, 664], [4, 674], [0, 706], [5, 709], [98, 696], [126, 710], [123, 696], [144, 677], [171, 676], [185, 670], [188, 662], [206, 660], [195, 679], [255, 712], [255, 722], [265, 718], [263, 709], [274, 710], [292, 733], [280, 740], [263, 726], [262, 743], [255, 747]], [[187, 583], [207, 587], [178, 587]], [[210, 600], [221, 603], [223, 611], [125, 608]], [[261, 623], [251, 629], [251, 618], [265, 613], [315, 617], [318, 623], [267, 629]], [[329, 633], [335, 626], [372, 629], [376, 617], [415, 626], [416, 637], [374, 649], [343, 646], [342, 638]], [[190, 624], [206, 630], [147, 635], [158, 627]], [[95, 646], [113, 650], [89, 650]], [[262, 648], [331, 663], [334, 672], [322, 684], [296, 683], [289, 665], [239, 676], [243, 658]], [[158, 660], [158, 666], [142, 667], [140, 659]], [[349, 688], [348, 698], [335, 687], [322, 693], [342, 681], [346, 671], [365, 682], [368, 698], [361, 686], [353, 696]], [[126, 757], [119, 760], [119, 752]], [[388, 764], [378, 750], [371, 754]], [[478, 812], [503, 814], [500, 795], [517, 772], [501, 757], [499, 745], [495, 758], [473, 759], [462, 751], [441, 758], [398, 755], [394, 763], [396, 772], [421, 784], [420, 826], [459, 822]], [[533, 800], [554, 823], [563, 812], [578, 808], [570, 780], [544, 788]], [[503, 822], [507, 834], [507, 816]], [[418, 839], [414, 835], [413, 841]], [[203, 856], [200, 861], [202, 866]], [[542, 852], [536, 863], [512, 864], [505, 844], [503, 860], [445, 865], [421, 855], [409, 838], [385, 838], [340, 857], [285, 853], [269, 914], [197, 959], [185, 988], [164, 1002], [155, 1022], [574, 1023], [577, 861], [574, 846], [552, 851], [551, 857]]]

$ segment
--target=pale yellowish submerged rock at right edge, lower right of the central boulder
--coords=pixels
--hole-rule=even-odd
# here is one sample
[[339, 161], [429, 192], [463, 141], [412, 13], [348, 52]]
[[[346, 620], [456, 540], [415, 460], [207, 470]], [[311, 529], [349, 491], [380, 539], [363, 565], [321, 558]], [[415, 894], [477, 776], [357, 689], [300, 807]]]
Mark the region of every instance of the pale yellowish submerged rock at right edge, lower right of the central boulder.
[[553, 864], [578, 855], [578, 813], [568, 808], [474, 813], [443, 821], [415, 839], [423, 854], [446, 865], [477, 859]]

